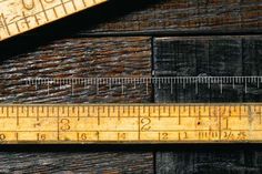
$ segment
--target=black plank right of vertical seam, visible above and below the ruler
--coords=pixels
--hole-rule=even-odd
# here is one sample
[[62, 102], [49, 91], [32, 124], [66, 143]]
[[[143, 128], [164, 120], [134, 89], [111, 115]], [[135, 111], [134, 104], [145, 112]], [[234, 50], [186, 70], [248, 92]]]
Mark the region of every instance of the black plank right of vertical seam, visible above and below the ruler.
[[[171, 37], [154, 39], [155, 75], [261, 75], [261, 35], [246, 37]], [[174, 94], [154, 88], [155, 102], [261, 102], [261, 90], [243, 85], [194, 86]], [[185, 93], [187, 92], [187, 93]], [[164, 93], [164, 95], [163, 95]], [[248, 144], [170, 146], [158, 152], [157, 172], [173, 173], [261, 173], [261, 149]]]

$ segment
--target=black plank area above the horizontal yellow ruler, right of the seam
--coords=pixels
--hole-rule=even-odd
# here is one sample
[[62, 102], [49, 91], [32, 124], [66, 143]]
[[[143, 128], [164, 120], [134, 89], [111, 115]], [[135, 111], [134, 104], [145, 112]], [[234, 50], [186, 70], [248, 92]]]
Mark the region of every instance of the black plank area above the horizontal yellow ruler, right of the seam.
[[[157, 76], [246, 76], [261, 74], [262, 38], [255, 37], [171, 37], [154, 40], [154, 74]], [[255, 48], [255, 51], [254, 51]], [[252, 66], [252, 68], [251, 68]], [[249, 102], [261, 101], [261, 89], [242, 84], [170, 86], [157, 90], [155, 99], [167, 102]]]

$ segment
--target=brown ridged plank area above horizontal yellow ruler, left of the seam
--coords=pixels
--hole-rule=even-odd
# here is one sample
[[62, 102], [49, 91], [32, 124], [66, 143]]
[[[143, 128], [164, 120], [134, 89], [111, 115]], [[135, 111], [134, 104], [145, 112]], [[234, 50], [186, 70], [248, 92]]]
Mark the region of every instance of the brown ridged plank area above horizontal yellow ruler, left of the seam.
[[[26, 78], [95, 78], [151, 75], [151, 45], [149, 38], [84, 38], [68, 39], [12, 57], [0, 64], [0, 102], [4, 103], [87, 103], [145, 102], [151, 100], [145, 86], [59, 84], [26, 85]], [[151, 90], [149, 90], [151, 93]]]

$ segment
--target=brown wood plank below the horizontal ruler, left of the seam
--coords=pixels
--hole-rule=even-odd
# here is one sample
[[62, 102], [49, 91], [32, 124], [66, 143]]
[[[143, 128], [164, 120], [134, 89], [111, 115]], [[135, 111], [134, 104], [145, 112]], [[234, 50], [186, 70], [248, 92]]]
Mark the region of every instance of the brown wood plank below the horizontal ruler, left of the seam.
[[152, 153], [1, 152], [0, 158], [1, 173], [153, 173]]

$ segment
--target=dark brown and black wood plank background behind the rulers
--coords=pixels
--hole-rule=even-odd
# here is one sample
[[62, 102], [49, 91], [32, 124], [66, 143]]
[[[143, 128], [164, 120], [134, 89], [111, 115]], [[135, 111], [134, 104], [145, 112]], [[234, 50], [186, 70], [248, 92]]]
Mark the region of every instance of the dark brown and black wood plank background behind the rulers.
[[[80, 22], [81, 21], [81, 22]], [[0, 44], [0, 102], [261, 102], [262, 91], [91, 86], [37, 92], [28, 76], [261, 75], [261, 0], [111, 0]], [[141, 95], [141, 93], [143, 95]], [[0, 173], [261, 173], [259, 144], [1, 145]]]

